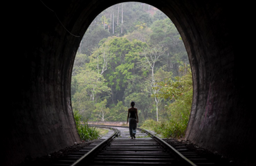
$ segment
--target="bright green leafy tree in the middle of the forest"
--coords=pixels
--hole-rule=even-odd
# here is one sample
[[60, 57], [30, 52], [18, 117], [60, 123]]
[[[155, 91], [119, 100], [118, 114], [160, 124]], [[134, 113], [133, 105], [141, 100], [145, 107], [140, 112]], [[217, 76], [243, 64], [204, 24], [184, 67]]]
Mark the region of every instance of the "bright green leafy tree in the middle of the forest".
[[102, 46], [107, 48], [109, 55], [107, 71], [103, 75], [111, 89], [112, 103], [116, 104], [118, 99], [122, 99], [129, 80], [138, 72], [139, 53], [145, 43], [138, 40], [130, 42], [124, 37], [111, 37]]

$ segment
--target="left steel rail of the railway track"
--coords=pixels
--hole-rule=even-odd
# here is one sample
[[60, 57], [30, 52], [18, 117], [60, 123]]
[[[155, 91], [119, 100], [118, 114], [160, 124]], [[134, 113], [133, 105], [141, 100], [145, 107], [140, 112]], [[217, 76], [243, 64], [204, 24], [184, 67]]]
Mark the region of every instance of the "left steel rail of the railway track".
[[[110, 128], [110, 127], [104, 127], [104, 128]], [[108, 142], [111, 142], [111, 140], [113, 140], [113, 138], [115, 138], [116, 136], [118, 136], [120, 134], [120, 131], [118, 129], [113, 129], [113, 130], [115, 132], [109, 138], [107, 138], [106, 140], [100, 142], [99, 145], [95, 146], [93, 149], [91, 149], [91, 151], [89, 151], [88, 153], [84, 154], [84, 156], [82, 156], [80, 159], [78, 159], [71, 166], [83, 165], [84, 163], [86, 163], [88, 158], [90, 158], [91, 156], [93, 156], [95, 154], [95, 152], [99, 151], [100, 149], [102, 149], [103, 147], [108, 145]]]

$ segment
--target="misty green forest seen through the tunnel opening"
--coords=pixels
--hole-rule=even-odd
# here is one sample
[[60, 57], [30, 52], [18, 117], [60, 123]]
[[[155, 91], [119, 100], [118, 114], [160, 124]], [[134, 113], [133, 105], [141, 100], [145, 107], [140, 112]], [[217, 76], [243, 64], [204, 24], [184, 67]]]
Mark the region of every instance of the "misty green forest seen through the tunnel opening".
[[134, 101], [140, 126], [182, 136], [192, 75], [172, 21], [146, 3], [119, 3], [101, 12], [77, 50], [71, 98], [73, 111], [89, 121], [126, 122]]

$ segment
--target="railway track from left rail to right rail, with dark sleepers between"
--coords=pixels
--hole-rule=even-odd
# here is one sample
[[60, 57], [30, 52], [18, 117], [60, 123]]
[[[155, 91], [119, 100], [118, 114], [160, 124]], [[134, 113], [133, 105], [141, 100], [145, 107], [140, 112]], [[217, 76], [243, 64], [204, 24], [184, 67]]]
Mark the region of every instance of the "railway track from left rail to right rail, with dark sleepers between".
[[104, 140], [72, 166], [194, 165], [190, 160], [171, 149], [170, 145], [147, 131], [145, 133], [138, 132], [136, 139], [130, 139], [128, 134], [127, 127], [118, 127], [109, 139]]

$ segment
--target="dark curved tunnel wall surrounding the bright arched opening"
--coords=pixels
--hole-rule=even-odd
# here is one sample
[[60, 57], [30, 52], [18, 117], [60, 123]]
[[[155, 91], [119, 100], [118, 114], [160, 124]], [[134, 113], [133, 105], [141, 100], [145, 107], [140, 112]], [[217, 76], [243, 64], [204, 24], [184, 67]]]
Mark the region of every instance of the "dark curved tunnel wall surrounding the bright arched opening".
[[[91, 21], [123, 0], [19, 1], [3, 15], [3, 165], [80, 142], [71, 72]], [[193, 98], [185, 139], [241, 165], [255, 165], [250, 4], [242, 1], [141, 0], [165, 13], [188, 52]], [[8, 41], [8, 42], [7, 42]], [[5, 107], [6, 106], [6, 107]]]

